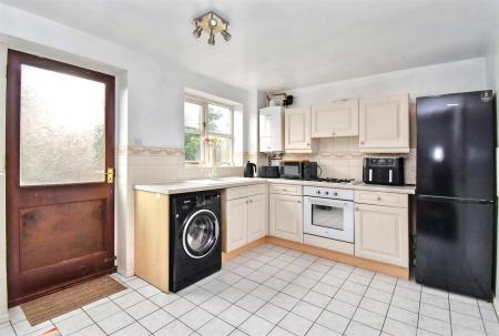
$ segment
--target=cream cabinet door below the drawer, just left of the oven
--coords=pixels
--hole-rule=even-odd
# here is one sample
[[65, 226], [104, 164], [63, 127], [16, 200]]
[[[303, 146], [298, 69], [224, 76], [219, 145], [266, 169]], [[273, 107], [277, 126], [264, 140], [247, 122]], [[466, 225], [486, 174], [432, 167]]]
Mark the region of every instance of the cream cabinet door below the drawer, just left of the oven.
[[303, 243], [302, 196], [272, 194], [269, 235]]

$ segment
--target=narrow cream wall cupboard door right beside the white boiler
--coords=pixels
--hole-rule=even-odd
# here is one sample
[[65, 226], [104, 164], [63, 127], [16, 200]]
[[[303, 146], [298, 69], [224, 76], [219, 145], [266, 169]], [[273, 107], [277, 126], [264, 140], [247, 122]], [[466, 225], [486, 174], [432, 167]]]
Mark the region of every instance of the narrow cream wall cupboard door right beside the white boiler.
[[284, 125], [286, 150], [312, 150], [310, 108], [286, 109]]

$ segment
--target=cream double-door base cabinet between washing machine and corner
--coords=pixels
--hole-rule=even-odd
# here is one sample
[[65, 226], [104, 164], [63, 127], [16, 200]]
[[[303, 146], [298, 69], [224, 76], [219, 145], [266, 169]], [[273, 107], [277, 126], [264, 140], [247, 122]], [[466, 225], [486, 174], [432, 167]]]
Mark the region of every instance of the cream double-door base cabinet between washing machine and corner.
[[267, 184], [225, 190], [222, 193], [222, 250], [231, 252], [267, 235]]

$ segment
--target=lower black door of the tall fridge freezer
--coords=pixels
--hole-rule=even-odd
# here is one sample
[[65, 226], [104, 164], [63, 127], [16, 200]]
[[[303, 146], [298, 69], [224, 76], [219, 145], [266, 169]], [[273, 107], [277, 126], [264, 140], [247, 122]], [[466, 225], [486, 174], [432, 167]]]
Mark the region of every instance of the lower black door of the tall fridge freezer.
[[417, 198], [416, 282], [492, 298], [495, 203]]

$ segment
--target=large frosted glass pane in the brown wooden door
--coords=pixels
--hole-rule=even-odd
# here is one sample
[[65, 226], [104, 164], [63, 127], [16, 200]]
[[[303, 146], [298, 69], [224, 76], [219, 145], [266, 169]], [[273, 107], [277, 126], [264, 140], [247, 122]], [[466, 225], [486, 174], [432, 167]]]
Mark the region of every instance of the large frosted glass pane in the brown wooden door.
[[21, 65], [20, 184], [104, 182], [105, 84]]

